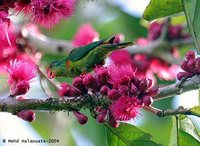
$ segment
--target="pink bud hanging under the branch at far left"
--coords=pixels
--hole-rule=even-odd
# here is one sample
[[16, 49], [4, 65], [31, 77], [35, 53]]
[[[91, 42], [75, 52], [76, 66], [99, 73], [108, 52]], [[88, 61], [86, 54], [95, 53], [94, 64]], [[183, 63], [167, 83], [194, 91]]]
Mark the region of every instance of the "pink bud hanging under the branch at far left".
[[35, 113], [31, 110], [22, 110], [16, 114], [19, 118], [28, 121], [33, 122], [35, 120]]

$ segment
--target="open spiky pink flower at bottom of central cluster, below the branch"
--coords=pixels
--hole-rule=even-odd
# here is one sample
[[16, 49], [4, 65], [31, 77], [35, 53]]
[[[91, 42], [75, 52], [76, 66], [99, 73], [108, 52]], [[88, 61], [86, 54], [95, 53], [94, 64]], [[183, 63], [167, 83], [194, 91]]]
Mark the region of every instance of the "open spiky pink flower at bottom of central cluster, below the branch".
[[128, 121], [135, 118], [139, 114], [139, 108], [141, 108], [141, 105], [138, 104], [137, 98], [125, 96], [120, 97], [109, 106], [112, 116], [119, 121]]

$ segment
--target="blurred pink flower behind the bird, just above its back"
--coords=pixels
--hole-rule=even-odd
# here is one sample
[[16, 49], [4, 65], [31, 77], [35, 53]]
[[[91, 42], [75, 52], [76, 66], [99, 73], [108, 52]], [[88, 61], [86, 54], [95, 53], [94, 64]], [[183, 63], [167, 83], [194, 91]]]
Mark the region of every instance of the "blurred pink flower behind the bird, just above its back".
[[92, 28], [90, 24], [84, 24], [75, 34], [72, 44], [74, 47], [85, 46], [92, 43], [95, 40], [99, 40], [99, 34]]

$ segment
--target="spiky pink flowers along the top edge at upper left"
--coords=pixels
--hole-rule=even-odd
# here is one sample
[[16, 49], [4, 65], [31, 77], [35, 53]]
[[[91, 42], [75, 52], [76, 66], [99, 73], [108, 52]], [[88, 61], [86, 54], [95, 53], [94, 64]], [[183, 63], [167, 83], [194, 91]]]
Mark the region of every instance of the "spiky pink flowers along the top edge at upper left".
[[61, 19], [72, 16], [76, 0], [9, 0], [0, 4], [0, 23], [9, 23], [9, 9], [29, 15], [33, 22], [51, 28]]

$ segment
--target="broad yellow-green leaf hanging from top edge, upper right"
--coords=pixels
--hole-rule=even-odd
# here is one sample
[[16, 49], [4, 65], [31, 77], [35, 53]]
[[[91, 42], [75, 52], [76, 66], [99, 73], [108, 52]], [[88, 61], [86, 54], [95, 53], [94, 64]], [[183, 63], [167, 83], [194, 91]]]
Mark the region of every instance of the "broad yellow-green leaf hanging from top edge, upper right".
[[143, 18], [151, 21], [183, 11], [181, 0], [151, 0]]

